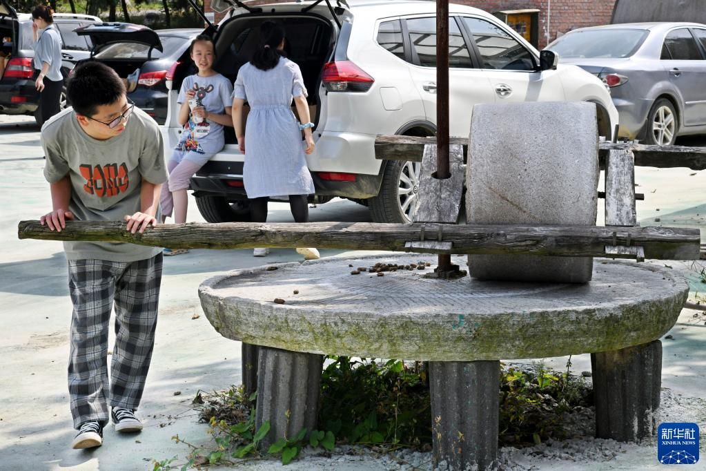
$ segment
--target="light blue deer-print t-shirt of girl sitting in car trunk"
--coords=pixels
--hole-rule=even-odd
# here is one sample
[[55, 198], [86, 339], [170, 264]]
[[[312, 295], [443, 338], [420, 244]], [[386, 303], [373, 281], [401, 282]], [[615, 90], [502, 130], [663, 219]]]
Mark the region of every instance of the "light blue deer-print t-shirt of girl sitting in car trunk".
[[[225, 107], [232, 105], [233, 85], [220, 73], [210, 77], [193, 75], [184, 78], [177, 98], [179, 105], [186, 101], [188, 90], [193, 90], [196, 93], [193, 97], [195, 105], [205, 107], [206, 111], [210, 113], [223, 114]], [[199, 119], [189, 114], [189, 121], [186, 121], [184, 125], [184, 132], [181, 133], [177, 150], [213, 155], [223, 148], [224, 143], [221, 124], [208, 121], [208, 119]]]

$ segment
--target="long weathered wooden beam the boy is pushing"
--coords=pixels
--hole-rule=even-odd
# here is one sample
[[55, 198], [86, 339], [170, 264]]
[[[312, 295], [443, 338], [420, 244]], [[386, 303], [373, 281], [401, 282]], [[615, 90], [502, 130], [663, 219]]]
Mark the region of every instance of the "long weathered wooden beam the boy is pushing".
[[[320, 249], [405, 251], [407, 242], [451, 242], [453, 254], [522, 254], [605, 257], [610, 246], [638, 245], [645, 258], [698, 260], [699, 229], [674, 227], [445, 225], [371, 222], [157, 225], [144, 234], [126, 232], [124, 222], [66, 222], [61, 232], [37, 220], [21, 221], [20, 239], [128, 242], [172, 249], [251, 249], [318, 247]], [[424, 229], [422, 229], [424, 228]], [[439, 234], [441, 233], [441, 238]], [[441, 239], [441, 240], [439, 240]], [[629, 258], [611, 255], [611, 258]]]

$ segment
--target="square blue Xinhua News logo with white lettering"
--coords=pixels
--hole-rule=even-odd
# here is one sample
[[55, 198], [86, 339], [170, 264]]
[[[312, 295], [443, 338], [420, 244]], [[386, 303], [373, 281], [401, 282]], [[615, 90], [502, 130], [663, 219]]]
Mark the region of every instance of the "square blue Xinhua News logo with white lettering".
[[695, 465], [699, 460], [699, 426], [688, 422], [660, 424], [657, 459], [663, 465]]

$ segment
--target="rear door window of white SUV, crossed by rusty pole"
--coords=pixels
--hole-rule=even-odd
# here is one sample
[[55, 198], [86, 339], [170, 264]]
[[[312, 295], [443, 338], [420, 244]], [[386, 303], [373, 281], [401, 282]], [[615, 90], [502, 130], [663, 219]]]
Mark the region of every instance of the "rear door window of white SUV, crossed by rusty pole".
[[[420, 66], [436, 67], [436, 18], [409, 18], [409, 42]], [[448, 66], [472, 68], [471, 56], [453, 19], [448, 23]]]

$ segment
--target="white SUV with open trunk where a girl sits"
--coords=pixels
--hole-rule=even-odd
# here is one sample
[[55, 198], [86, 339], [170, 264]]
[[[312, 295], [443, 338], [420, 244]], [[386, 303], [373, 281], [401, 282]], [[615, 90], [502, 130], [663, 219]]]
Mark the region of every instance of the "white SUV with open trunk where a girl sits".
[[[231, 8], [228, 0], [212, 7]], [[258, 43], [258, 26], [277, 20], [287, 30], [287, 55], [309, 90], [316, 150], [307, 157], [313, 201], [334, 196], [368, 205], [376, 222], [407, 222], [417, 202], [419, 164], [376, 160], [377, 134], [432, 136], [436, 131], [436, 12], [430, 1], [304, 1], [239, 8], [210, 31], [215, 68], [234, 81]], [[450, 5], [450, 134], [467, 136], [476, 103], [595, 102], [599, 131], [618, 121], [606, 86], [575, 66], [540, 66], [539, 53], [489, 13]], [[208, 30], [207, 30], [208, 31]], [[551, 56], [551, 55], [550, 55]], [[164, 125], [167, 153], [179, 138], [177, 93], [190, 60], [171, 78]], [[546, 70], [543, 70], [546, 69]], [[169, 84], [168, 84], [169, 86]], [[226, 145], [193, 179], [209, 222], [247, 220], [243, 162], [232, 129]]]

